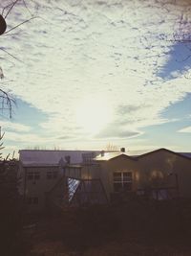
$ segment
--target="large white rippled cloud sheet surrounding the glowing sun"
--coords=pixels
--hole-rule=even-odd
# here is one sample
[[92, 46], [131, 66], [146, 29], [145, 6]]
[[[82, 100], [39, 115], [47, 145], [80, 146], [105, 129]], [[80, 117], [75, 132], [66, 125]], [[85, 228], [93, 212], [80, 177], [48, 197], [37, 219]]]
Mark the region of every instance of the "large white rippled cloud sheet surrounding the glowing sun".
[[[39, 124], [45, 138], [36, 130], [23, 138], [11, 133], [12, 140], [51, 143], [84, 138], [76, 110], [84, 98], [100, 96], [114, 111], [111, 127], [97, 130], [96, 137], [137, 136], [142, 128], [169, 122], [162, 113], [183, 101], [190, 81], [177, 72], [171, 80], [158, 74], [174, 45], [166, 38], [180, 34], [182, 13], [188, 23], [191, 20], [188, 2], [60, 0], [38, 6], [29, 2], [29, 9], [43, 19], [21, 26], [18, 35], [11, 40], [4, 36], [1, 43], [24, 62], [14, 68], [4, 62], [5, 82], [14, 95], [48, 115], [47, 122]], [[28, 15], [19, 5], [9, 15], [9, 26]]]

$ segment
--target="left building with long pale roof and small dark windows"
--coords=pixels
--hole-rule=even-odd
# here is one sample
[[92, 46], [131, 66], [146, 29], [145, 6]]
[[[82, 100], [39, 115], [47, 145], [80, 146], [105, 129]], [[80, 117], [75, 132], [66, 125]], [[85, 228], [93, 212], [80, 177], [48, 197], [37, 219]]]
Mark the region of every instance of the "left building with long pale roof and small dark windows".
[[100, 151], [19, 151], [19, 187], [28, 211], [46, 206], [47, 194], [63, 178], [66, 164], [89, 163]]

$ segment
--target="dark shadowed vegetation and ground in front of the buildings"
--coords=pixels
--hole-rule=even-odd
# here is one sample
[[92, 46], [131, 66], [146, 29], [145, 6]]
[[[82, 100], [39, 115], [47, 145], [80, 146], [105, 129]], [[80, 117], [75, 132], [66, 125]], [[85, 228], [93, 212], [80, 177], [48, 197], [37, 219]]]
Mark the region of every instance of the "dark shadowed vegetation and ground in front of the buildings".
[[134, 200], [125, 205], [46, 212], [25, 221], [32, 225], [18, 235], [12, 255], [191, 255], [190, 201]]

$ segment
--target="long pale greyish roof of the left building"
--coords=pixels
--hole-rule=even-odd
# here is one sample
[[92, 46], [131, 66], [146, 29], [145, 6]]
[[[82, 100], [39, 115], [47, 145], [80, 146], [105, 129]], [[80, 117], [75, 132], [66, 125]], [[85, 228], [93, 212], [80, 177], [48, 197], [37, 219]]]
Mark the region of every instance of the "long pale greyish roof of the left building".
[[100, 151], [42, 151], [21, 150], [19, 160], [24, 166], [49, 166], [59, 165], [60, 161], [67, 163], [66, 157], [70, 156], [71, 164], [79, 164], [83, 161], [84, 154], [96, 157]]

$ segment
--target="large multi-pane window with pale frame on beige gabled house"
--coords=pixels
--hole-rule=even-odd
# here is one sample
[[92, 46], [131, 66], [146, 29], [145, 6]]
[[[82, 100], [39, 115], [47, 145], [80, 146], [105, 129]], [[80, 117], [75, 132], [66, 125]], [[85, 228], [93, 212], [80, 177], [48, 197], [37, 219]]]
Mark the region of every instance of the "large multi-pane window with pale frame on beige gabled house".
[[114, 191], [131, 191], [132, 190], [132, 173], [116, 172], [114, 173]]

